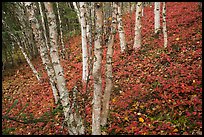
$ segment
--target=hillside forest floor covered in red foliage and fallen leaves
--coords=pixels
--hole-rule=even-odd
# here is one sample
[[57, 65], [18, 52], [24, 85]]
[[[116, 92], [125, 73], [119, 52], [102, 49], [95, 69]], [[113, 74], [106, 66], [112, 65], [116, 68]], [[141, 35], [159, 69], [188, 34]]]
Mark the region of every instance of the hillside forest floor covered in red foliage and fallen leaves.
[[[120, 53], [116, 34], [113, 54], [114, 86], [108, 126], [103, 131], [107, 134], [130, 135], [200, 135], [202, 12], [198, 10], [197, 3], [167, 2], [168, 47], [164, 49], [162, 33], [154, 36], [153, 11], [153, 6], [144, 9], [142, 48], [138, 52], [132, 50], [135, 14], [127, 14], [123, 18], [129, 47], [127, 53]], [[70, 58], [61, 60], [67, 87], [71, 90], [77, 85], [80, 91], [81, 37], [72, 38], [67, 47]], [[103, 89], [105, 52], [104, 46]], [[68, 134], [66, 129], [62, 129], [63, 114], [59, 105], [54, 105], [52, 90], [41, 59], [37, 58], [32, 62], [41, 73], [44, 80], [42, 83], [38, 83], [26, 63], [12, 70], [12, 76], [5, 76], [3, 79], [3, 134]], [[87, 97], [86, 107], [83, 108], [87, 114], [87, 134], [91, 134], [93, 92], [93, 87], [89, 88], [89, 93], [80, 93], [80, 96]], [[13, 108], [9, 111], [10, 107]]]

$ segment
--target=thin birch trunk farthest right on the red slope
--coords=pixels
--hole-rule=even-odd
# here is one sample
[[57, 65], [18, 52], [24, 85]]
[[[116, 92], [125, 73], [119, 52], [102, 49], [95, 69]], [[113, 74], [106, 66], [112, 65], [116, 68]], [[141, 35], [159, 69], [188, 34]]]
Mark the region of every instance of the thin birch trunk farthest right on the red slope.
[[167, 27], [166, 27], [166, 3], [163, 2], [162, 8], [163, 15], [163, 34], [164, 34], [164, 47], [167, 47]]

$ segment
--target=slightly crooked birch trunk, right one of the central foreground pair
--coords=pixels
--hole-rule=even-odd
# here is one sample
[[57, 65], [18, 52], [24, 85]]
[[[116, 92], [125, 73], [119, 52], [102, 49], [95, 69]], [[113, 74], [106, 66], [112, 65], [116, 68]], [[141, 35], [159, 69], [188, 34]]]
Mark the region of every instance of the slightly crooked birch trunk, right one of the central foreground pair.
[[106, 54], [106, 87], [103, 95], [103, 106], [102, 106], [102, 112], [101, 112], [101, 125], [105, 126], [107, 124], [107, 118], [108, 118], [108, 112], [109, 112], [109, 101], [110, 101], [110, 95], [113, 87], [112, 82], [112, 57], [113, 57], [113, 43], [115, 38], [115, 31], [116, 31], [116, 14], [114, 10], [117, 7], [113, 6], [113, 12], [112, 12], [112, 28], [111, 28], [111, 39], [108, 43], [108, 49]]

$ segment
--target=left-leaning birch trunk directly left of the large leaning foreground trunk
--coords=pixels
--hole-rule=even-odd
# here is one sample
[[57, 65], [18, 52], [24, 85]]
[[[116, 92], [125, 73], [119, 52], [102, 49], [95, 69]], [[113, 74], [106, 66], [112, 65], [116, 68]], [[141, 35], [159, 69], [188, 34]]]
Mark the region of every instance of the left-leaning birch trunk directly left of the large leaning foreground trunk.
[[[38, 20], [36, 19], [35, 13], [34, 13], [34, 11], [37, 9], [37, 7], [34, 5], [34, 3], [31, 3], [31, 2], [25, 2], [25, 6], [27, 7], [27, 11], [29, 13], [29, 20], [31, 22], [31, 27], [33, 29], [34, 39], [36, 41], [37, 47], [40, 50], [40, 56], [41, 56], [43, 64], [45, 65], [45, 69], [46, 69], [48, 77], [49, 77], [49, 81], [50, 81], [50, 85], [51, 85], [51, 88], [53, 91], [55, 104], [57, 104], [57, 102], [59, 100], [59, 96], [58, 96], [58, 90], [57, 90], [56, 84], [55, 84], [54, 70], [52, 68], [52, 64], [51, 64], [50, 59], [49, 59], [47, 47], [46, 47], [45, 42], [44, 42], [43, 37], [42, 37], [42, 31], [40, 30], [40, 24], [39, 24]], [[42, 12], [42, 11], [40, 11], [40, 12]], [[41, 18], [43, 18], [43, 17], [41, 17]]]

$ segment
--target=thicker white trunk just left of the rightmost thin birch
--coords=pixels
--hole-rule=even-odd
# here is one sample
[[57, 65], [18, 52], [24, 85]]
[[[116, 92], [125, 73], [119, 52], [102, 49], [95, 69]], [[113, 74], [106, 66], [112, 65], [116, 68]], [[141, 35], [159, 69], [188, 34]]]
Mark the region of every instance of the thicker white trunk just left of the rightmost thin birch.
[[160, 30], [160, 2], [154, 3], [154, 32], [159, 33]]

